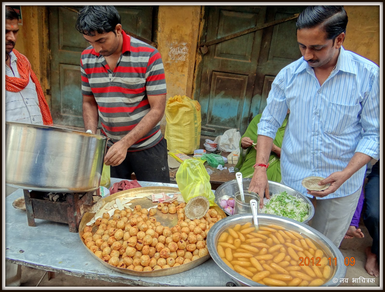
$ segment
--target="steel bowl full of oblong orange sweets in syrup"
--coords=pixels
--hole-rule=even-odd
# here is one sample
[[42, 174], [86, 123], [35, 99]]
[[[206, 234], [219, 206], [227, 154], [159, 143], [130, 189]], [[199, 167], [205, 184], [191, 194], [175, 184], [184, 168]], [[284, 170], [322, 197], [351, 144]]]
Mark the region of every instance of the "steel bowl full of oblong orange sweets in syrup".
[[258, 215], [258, 230], [252, 214], [218, 221], [207, 247], [219, 267], [244, 286], [338, 286], [346, 274], [343, 255], [326, 236], [270, 214]]

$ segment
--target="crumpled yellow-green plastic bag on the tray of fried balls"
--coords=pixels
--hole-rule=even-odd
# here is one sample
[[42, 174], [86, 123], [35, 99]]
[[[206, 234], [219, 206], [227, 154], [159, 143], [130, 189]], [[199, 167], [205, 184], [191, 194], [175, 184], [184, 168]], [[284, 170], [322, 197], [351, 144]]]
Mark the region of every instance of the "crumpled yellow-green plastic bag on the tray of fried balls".
[[196, 196], [206, 197], [210, 206], [214, 206], [214, 193], [211, 191], [210, 176], [202, 162], [186, 159], [175, 175], [176, 183], [185, 202]]

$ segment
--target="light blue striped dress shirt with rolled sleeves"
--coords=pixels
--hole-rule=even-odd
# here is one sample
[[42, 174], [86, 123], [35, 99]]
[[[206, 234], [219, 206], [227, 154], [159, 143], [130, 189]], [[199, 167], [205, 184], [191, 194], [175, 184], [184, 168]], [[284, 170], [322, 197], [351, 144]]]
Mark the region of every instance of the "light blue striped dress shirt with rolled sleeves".
[[[275, 138], [290, 109], [281, 150], [282, 182], [313, 197], [301, 185], [308, 176], [328, 177], [343, 170], [355, 152], [380, 158], [380, 69], [341, 47], [335, 70], [320, 86], [303, 57], [285, 68], [271, 85], [258, 135]], [[365, 166], [334, 193], [357, 191]]]

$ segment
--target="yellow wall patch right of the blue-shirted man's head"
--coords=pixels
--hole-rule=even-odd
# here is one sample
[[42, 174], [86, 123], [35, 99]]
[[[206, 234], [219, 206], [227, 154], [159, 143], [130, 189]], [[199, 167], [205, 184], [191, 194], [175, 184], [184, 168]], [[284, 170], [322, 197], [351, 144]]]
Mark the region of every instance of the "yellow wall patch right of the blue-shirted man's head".
[[380, 65], [380, 6], [346, 5], [344, 8], [348, 26], [343, 46]]

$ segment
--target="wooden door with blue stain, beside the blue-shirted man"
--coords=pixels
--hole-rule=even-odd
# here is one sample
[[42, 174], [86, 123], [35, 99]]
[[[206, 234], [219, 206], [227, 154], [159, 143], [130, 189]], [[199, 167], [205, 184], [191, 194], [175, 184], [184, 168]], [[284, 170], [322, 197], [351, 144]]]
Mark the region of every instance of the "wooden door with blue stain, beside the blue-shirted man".
[[[283, 19], [306, 6], [208, 7], [201, 42]], [[266, 106], [278, 72], [301, 57], [296, 19], [208, 47], [195, 98], [202, 106], [202, 135], [216, 137], [230, 128], [243, 134]]]

